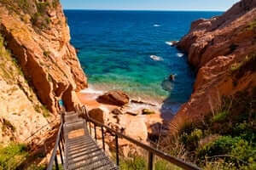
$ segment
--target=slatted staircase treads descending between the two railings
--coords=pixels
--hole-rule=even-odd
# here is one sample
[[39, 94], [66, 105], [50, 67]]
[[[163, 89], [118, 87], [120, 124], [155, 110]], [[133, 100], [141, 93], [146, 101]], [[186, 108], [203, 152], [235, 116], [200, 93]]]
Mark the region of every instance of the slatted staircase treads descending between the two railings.
[[[77, 132], [74, 133], [73, 132]], [[64, 169], [119, 169], [91, 138], [86, 123], [76, 112], [65, 112], [64, 124]], [[72, 136], [73, 134], [73, 136]]]

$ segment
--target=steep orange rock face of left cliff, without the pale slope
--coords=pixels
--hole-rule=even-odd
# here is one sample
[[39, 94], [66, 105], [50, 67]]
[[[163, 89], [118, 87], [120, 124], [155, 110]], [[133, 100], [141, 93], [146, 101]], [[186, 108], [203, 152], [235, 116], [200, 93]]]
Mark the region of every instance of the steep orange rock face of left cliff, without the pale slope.
[[67, 110], [73, 110], [79, 103], [75, 91], [87, 87], [87, 80], [69, 42], [61, 4], [10, 2], [0, 3], [0, 33], [6, 48], [18, 60], [27, 81], [49, 111], [59, 110], [58, 99], [63, 99]]

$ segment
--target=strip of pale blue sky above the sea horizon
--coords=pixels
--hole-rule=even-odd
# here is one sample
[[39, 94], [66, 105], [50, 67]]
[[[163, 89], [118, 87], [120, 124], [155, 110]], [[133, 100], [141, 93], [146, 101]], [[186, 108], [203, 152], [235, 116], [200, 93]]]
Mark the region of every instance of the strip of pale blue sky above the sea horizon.
[[61, 0], [65, 9], [225, 11], [239, 0]]

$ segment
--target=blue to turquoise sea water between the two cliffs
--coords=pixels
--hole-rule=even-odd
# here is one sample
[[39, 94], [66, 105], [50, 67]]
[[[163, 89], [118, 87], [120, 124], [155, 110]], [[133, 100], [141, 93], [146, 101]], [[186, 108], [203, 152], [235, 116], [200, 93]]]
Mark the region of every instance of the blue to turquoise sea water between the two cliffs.
[[[183, 103], [192, 92], [195, 74], [186, 55], [177, 57], [180, 52], [166, 42], [183, 37], [193, 20], [221, 13], [65, 10], [65, 14], [90, 84]], [[166, 80], [170, 74], [177, 75], [175, 82]]]

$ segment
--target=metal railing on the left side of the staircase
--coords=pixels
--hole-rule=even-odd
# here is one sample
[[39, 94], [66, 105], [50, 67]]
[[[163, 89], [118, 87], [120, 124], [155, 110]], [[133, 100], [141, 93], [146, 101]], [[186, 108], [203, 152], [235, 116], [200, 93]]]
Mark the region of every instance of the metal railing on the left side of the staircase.
[[58, 133], [57, 133], [57, 137], [55, 140], [55, 147], [52, 151], [51, 157], [49, 159], [49, 164], [47, 167], [47, 170], [52, 170], [52, 168], [54, 167], [55, 164], [55, 170], [59, 170], [59, 162], [58, 162], [58, 158], [57, 158], [57, 150], [60, 151], [60, 157], [61, 157], [61, 165], [63, 166], [64, 164], [64, 138], [63, 138], [63, 119], [62, 119], [62, 115], [61, 115], [61, 125], [59, 127]]

